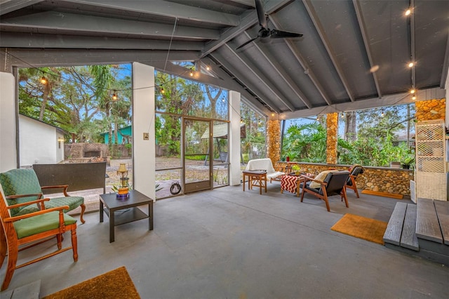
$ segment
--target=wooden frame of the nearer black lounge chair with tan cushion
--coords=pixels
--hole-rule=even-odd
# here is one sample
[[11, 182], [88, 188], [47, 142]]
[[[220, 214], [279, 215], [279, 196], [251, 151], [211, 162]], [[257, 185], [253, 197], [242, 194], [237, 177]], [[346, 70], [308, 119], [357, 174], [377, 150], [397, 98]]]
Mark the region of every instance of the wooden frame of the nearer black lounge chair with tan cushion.
[[[331, 180], [332, 180], [332, 175], [344, 175], [347, 174], [349, 175], [349, 172], [344, 171], [344, 173], [340, 172], [340, 174], [337, 173], [329, 173], [326, 176], [326, 179], [321, 182], [321, 180], [315, 180], [314, 178], [310, 178], [307, 175], [301, 175], [301, 179], [303, 180], [302, 182], [302, 194], [301, 194], [301, 202], [304, 199], [304, 193], [310, 193], [312, 195], [314, 195], [315, 197], [318, 197], [319, 199], [322, 199], [324, 202], [326, 202], [326, 208], [328, 209], [328, 212], [330, 212], [330, 207], [329, 207], [329, 201], [328, 201], [328, 196], [332, 196], [332, 195], [340, 195], [342, 197], [342, 200], [344, 199], [344, 204], [346, 204], [346, 207], [349, 208], [349, 204], [348, 204], [348, 199], [346, 197], [346, 189], [344, 188], [344, 182], [342, 182], [342, 187], [340, 191], [337, 192], [330, 192], [330, 194], [328, 194], [328, 185], [330, 185]], [[344, 181], [346, 181], [347, 178], [345, 178]], [[314, 189], [314, 188], [310, 188], [308, 187], [307, 182], [314, 181], [314, 182], [318, 182], [321, 186], [319, 189]], [[337, 189], [340, 189], [340, 187], [338, 187]]]

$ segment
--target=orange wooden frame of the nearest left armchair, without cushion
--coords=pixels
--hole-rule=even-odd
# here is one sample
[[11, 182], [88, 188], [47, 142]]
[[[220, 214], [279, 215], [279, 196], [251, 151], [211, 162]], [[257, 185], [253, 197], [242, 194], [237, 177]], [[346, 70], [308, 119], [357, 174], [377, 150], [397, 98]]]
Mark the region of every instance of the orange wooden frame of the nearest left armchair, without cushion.
[[[38, 206], [44, 206], [45, 201], [49, 201], [50, 199], [37, 199], [35, 201], [28, 201], [22, 204], [15, 204], [11, 206], [6, 205], [6, 200], [4, 199], [3, 194], [0, 192], [0, 219], [1, 219], [1, 227], [0, 227], [0, 267], [3, 265], [4, 260], [6, 258], [6, 253], [8, 253], [8, 264], [6, 268], [6, 274], [1, 285], [1, 291], [4, 291], [8, 288], [11, 279], [13, 278], [14, 271], [18, 268], [25, 267], [27, 265], [31, 265], [32, 263], [39, 262], [45, 258], [50, 258], [53, 255], [58, 253], [62, 253], [64, 251], [68, 251], [72, 249], [73, 251], [73, 259], [74, 262], [78, 260], [78, 243], [76, 237], [76, 220], [70, 217], [69, 215], [65, 215], [62, 210], [69, 208], [69, 206], [58, 206], [55, 208], [43, 209], [41, 211], [28, 213], [25, 215], [18, 215], [11, 217], [9, 213], [9, 209], [18, 208], [19, 206], [26, 206], [29, 204], [37, 204]], [[15, 229], [14, 222], [19, 220], [25, 220], [28, 218], [41, 218], [42, 215], [48, 213], [58, 212], [58, 227], [51, 230], [44, 230], [41, 232], [37, 232], [36, 234], [27, 234], [25, 237], [18, 237], [18, 233]], [[52, 216], [53, 217], [53, 216]], [[69, 224], [67, 224], [69, 223]], [[62, 234], [70, 231], [72, 237], [72, 246], [68, 246], [66, 248], [62, 248]], [[37, 244], [41, 244], [43, 241], [48, 241], [49, 238], [56, 237], [58, 249], [53, 253], [48, 253], [46, 255], [40, 256], [39, 258], [35, 258], [34, 260], [30, 260], [27, 263], [23, 263], [21, 265], [16, 265], [18, 260], [18, 252], [35, 246]], [[19, 248], [20, 247], [20, 248]]]

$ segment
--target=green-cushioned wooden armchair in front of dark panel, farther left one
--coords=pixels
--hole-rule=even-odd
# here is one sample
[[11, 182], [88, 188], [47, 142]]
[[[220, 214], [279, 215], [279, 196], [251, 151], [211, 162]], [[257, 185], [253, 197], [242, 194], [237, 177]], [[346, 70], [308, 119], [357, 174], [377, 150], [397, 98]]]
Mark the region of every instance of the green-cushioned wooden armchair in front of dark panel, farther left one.
[[43, 210], [44, 208], [55, 208], [58, 206], [68, 206], [64, 210], [64, 213], [72, 211], [74, 208], [81, 206], [81, 222], [83, 220], [83, 214], [86, 210], [83, 197], [71, 197], [67, 194], [67, 187], [69, 185], [58, 186], [41, 186], [39, 180], [33, 169], [12, 169], [6, 171], [6, 173], [0, 173], [0, 184], [3, 188], [6, 201], [8, 205], [22, 204], [29, 201], [35, 201], [41, 199], [43, 189], [48, 188], [60, 188], [64, 192], [65, 197], [57, 197], [50, 199], [49, 201], [41, 201], [39, 204], [33, 203], [29, 205], [20, 205], [11, 209], [11, 216], [25, 215], [27, 213], [33, 213]]

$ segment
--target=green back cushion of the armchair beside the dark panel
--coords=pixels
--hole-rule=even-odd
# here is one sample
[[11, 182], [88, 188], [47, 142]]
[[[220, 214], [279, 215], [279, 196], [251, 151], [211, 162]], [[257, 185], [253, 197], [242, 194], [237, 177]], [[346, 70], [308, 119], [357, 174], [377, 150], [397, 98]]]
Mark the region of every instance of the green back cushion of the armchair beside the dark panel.
[[[32, 169], [13, 169], [6, 173], [0, 173], [0, 184], [6, 196], [20, 194], [41, 193], [41, 186], [36, 173]], [[21, 204], [27, 201], [36, 200], [38, 197], [22, 197], [20, 199], [7, 199], [8, 205]], [[31, 208], [33, 211], [39, 211], [37, 205], [21, 206], [11, 209], [11, 215], [17, 215], [24, 208]], [[33, 212], [28, 211], [28, 213]]]

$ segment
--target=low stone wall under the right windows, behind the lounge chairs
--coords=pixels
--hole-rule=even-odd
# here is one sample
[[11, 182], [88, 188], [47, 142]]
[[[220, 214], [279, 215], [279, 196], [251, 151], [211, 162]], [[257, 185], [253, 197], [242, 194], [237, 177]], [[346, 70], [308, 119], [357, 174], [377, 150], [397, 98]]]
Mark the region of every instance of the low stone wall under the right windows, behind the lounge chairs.
[[[287, 162], [277, 162], [276, 166], [286, 166], [286, 164]], [[330, 168], [341, 171], [347, 170], [350, 166], [302, 162], [298, 162], [297, 164], [300, 165], [301, 172], [314, 173], [315, 175]], [[410, 180], [413, 180], [413, 170], [369, 166], [364, 166], [364, 168], [365, 172], [358, 175], [356, 180], [358, 190], [388, 192], [410, 197]]]

